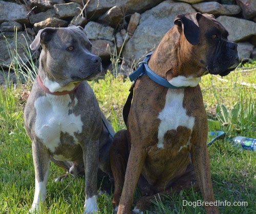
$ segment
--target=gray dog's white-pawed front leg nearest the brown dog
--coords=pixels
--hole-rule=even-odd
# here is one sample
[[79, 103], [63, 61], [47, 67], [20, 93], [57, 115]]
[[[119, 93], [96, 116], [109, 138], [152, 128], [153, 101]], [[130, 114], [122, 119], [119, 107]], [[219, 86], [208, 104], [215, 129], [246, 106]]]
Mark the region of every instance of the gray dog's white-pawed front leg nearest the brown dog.
[[99, 141], [90, 141], [83, 148], [84, 172], [86, 174], [86, 202], [84, 214], [97, 212], [97, 173], [98, 173], [98, 145]]

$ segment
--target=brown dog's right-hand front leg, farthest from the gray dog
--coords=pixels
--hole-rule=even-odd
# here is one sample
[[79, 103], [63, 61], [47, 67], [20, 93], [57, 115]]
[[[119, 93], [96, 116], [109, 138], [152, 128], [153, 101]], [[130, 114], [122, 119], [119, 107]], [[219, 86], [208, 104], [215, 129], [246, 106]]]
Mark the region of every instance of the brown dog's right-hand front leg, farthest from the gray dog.
[[[209, 155], [205, 146], [196, 145], [191, 151], [191, 159], [196, 173], [199, 187], [201, 189], [204, 202], [214, 202], [214, 192], [212, 190], [211, 176], [210, 176], [210, 163]], [[206, 213], [217, 214], [219, 213], [217, 206], [205, 206]]]

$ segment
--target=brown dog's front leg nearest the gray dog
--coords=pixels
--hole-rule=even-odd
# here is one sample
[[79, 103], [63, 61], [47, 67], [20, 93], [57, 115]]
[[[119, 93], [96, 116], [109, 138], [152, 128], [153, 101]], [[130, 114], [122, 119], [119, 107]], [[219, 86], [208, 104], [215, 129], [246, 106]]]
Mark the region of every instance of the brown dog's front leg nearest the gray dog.
[[117, 214], [127, 214], [131, 212], [135, 187], [139, 180], [144, 161], [145, 151], [141, 144], [139, 142], [136, 145], [132, 144]]

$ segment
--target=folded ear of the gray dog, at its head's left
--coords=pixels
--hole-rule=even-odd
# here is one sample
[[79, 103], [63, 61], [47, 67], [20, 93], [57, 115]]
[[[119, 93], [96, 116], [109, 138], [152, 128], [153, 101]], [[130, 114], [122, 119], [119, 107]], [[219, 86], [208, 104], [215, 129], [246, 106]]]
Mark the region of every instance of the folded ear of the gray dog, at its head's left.
[[40, 42], [50, 41], [52, 33], [56, 31], [55, 28], [44, 28], [38, 31], [34, 41], [29, 45], [32, 51], [35, 51], [40, 46]]

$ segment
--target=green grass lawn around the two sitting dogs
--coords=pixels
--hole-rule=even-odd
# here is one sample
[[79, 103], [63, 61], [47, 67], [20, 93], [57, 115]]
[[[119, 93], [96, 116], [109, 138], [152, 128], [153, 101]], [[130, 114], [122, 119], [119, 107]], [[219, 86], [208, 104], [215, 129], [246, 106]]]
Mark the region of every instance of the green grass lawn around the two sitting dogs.
[[[248, 63], [247, 67], [237, 69], [223, 78], [207, 75], [200, 84], [209, 118], [209, 130], [225, 131], [227, 135], [208, 148], [215, 198], [231, 204], [248, 203], [247, 206], [219, 206], [221, 213], [255, 213], [256, 210], [256, 152], [240, 151], [228, 140], [238, 135], [256, 138], [255, 64], [256, 61]], [[10, 68], [17, 74], [23, 74], [23, 65], [21, 62]], [[31, 79], [34, 77], [29, 67], [34, 67], [33, 63], [26, 67], [30, 72], [26, 85], [19, 81], [13, 85], [6, 77], [6, 86], [0, 86], [0, 213], [27, 213], [33, 201], [31, 142], [23, 122], [26, 92], [30, 90]], [[251, 85], [241, 84], [243, 82]], [[103, 79], [90, 82], [90, 85], [114, 129], [117, 131], [125, 128], [122, 107], [131, 82], [108, 73]], [[69, 177], [63, 182], [53, 182], [55, 177], [63, 173], [65, 171], [51, 163], [46, 205], [42, 206], [40, 213], [82, 213], [83, 178]], [[136, 191], [135, 201], [138, 196], [139, 192]], [[112, 213], [111, 200], [112, 195], [98, 198], [99, 213]], [[145, 213], [205, 213], [202, 206], [183, 206], [183, 200], [202, 201], [202, 196], [200, 191], [190, 190], [157, 198]]]

